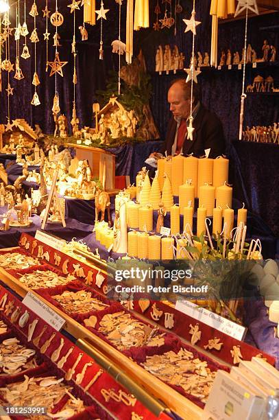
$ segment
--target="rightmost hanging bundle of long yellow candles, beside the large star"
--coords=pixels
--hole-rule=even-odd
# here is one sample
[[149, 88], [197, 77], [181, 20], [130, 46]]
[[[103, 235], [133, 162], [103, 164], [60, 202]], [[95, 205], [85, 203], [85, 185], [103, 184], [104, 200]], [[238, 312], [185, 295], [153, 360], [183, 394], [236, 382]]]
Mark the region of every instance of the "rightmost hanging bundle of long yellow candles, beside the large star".
[[228, 14], [234, 14], [235, 0], [211, 0], [210, 14], [212, 16], [211, 26], [211, 53], [210, 65], [218, 65], [218, 19], [227, 19]]

